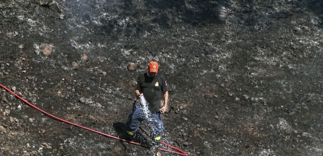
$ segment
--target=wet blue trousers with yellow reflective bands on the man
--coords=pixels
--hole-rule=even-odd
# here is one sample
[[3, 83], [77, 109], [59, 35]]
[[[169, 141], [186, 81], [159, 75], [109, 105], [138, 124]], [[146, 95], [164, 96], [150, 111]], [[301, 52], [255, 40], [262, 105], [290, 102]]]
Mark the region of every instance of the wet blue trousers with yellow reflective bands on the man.
[[134, 138], [139, 129], [140, 124], [146, 120], [148, 122], [150, 136], [155, 141], [161, 140], [161, 132], [164, 130], [160, 113], [152, 113], [145, 116], [140, 107], [136, 106], [135, 110], [129, 114], [127, 119], [127, 133]]

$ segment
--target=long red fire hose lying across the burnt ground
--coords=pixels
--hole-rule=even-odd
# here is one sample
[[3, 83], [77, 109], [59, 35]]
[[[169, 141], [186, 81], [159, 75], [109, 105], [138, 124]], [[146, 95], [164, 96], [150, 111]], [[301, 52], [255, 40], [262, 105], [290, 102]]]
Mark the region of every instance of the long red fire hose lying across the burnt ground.
[[[39, 108], [38, 108], [38, 107], [36, 107], [35, 105], [33, 105], [33, 104], [29, 103], [28, 101], [26, 101], [26, 100], [25, 100], [25, 99], [23, 99], [22, 97], [18, 96], [16, 93], [12, 92], [11, 90], [9, 90], [8, 88], [6, 88], [6, 87], [5, 87], [5, 86], [3, 86], [2, 84], [0, 84], [0, 87], [4, 88], [4, 89], [5, 89], [6, 91], [8, 91], [9, 93], [11, 93], [11, 94], [15, 95], [18, 99], [20, 99], [21, 101], [25, 102], [25, 103], [26, 103], [26, 104], [28, 104], [29, 106], [31, 106], [31, 107], [33, 107], [33, 108], [35, 108], [36, 110], [38, 110], [38, 111], [40, 111], [40, 112], [42, 112], [42, 113], [44, 113], [44, 114], [46, 114], [46, 115], [48, 115], [48, 116], [50, 116], [50, 117], [52, 117], [52, 118], [56, 119], [56, 120], [59, 120], [59, 121], [62, 121], [62, 122], [65, 122], [65, 123], [68, 123], [68, 124], [74, 125], [74, 126], [76, 126], [76, 127], [80, 127], [80, 128], [83, 128], [83, 129], [89, 130], [89, 131], [91, 131], [91, 132], [95, 132], [95, 133], [101, 134], [101, 135], [106, 136], [106, 137], [110, 137], [110, 138], [113, 138], [113, 139], [117, 139], [117, 140], [120, 140], [120, 141], [125, 141], [125, 142], [128, 142], [128, 143], [132, 143], [132, 144], [135, 144], [135, 145], [140, 145], [140, 146], [142, 146], [142, 147], [146, 147], [146, 148], [148, 148], [148, 146], [143, 145], [143, 144], [140, 144], [140, 143], [138, 143], [138, 142], [133, 142], [133, 141], [124, 140], [124, 139], [121, 139], [121, 138], [118, 138], [118, 137], [115, 137], [115, 136], [112, 136], [112, 135], [109, 135], [109, 134], [105, 134], [105, 133], [102, 133], [102, 132], [99, 132], [99, 131], [92, 130], [92, 129], [87, 128], [87, 127], [83, 127], [83, 126], [81, 126], [81, 125], [78, 125], [78, 124], [75, 124], [75, 123], [72, 123], [72, 122], [68, 122], [68, 121], [63, 120], [63, 119], [61, 119], [61, 118], [58, 118], [58, 117], [56, 117], [56, 116], [54, 116], [54, 115], [52, 115], [52, 114], [49, 114], [49, 113], [47, 113], [47, 112], [45, 112], [45, 111], [43, 111], [43, 110], [39, 109]], [[169, 145], [169, 144], [166, 144], [166, 143], [164, 143], [164, 142], [161, 142], [161, 143], [162, 143], [162, 144], [164, 144], [164, 145], [166, 145], [166, 146], [168, 146], [168, 147], [170, 147], [170, 148], [172, 148], [172, 149], [174, 149], [174, 150], [176, 150], [176, 151], [171, 151], [171, 150], [167, 150], [167, 149], [158, 148], [158, 149], [159, 149], [159, 150], [161, 150], [161, 151], [167, 151], [167, 152], [176, 153], [176, 154], [178, 154], [178, 155], [184, 155], [184, 156], [187, 156], [187, 155], [188, 155], [187, 153], [185, 153], [184, 151], [182, 151], [182, 150], [180, 150], [180, 149], [178, 149], [178, 148], [176, 148], [176, 147], [173, 147], [173, 146], [171, 146], [171, 145]], [[177, 152], [177, 151], [178, 151], [178, 152]]]

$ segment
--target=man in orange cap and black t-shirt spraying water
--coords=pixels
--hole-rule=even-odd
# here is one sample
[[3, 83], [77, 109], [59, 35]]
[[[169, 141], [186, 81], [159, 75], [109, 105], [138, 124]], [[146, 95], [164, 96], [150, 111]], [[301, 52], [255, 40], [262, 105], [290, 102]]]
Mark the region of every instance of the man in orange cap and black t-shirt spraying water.
[[[151, 139], [154, 145], [161, 141], [161, 132], [163, 131], [163, 122], [160, 114], [165, 113], [168, 104], [168, 85], [164, 75], [158, 73], [158, 63], [151, 61], [148, 64], [148, 72], [138, 76], [135, 86], [135, 94], [140, 99], [147, 101], [148, 112], [144, 110], [141, 104], [137, 104], [135, 110], [130, 113], [127, 119], [127, 137], [133, 139], [139, 129], [141, 122], [147, 120], [150, 129]], [[163, 93], [163, 94], [161, 94]], [[161, 95], [164, 97], [164, 105], [161, 107]], [[141, 97], [143, 96], [143, 97]]]

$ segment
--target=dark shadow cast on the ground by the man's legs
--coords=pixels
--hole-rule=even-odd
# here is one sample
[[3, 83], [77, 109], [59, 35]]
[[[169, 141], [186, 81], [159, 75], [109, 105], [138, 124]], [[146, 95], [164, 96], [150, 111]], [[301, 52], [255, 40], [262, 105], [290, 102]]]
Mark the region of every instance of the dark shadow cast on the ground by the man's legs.
[[[118, 133], [118, 136], [123, 136], [126, 133], [127, 124], [125, 124], [125, 123], [122, 123], [122, 122], [114, 122], [113, 123], [113, 127], [116, 130], [116, 132]], [[124, 138], [121, 138], [121, 139], [124, 139]], [[145, 134], [142, 134], [141, 132], [139, 132], [139, 130], [137, 131], [136, 137], [133, 140], [131, 140], [131, 141], [137, 142], [137, 143], [142, 144], [143, 146], [149, 147], [149, 141], [145, 137]], [[124, 145], [124, 141], [120, 141], [120, 143], [126, 149], [126, 146]]]

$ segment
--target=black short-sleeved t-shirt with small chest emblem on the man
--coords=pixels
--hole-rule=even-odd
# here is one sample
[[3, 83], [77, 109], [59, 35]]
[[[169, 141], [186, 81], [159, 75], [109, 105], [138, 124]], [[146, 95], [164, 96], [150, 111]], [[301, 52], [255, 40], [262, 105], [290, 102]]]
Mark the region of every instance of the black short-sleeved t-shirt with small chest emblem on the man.
[[157, 73], [154, 77], [149, 77], [147, 73], [140, 74], [135, 86], [143, 96], [148, 104], [148, 109], [151, 112], [159, 112], [161, 109], [161, 95], [168, 91], [166, 78], [163, 74]]

